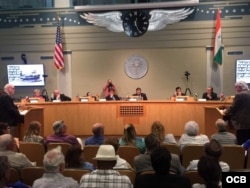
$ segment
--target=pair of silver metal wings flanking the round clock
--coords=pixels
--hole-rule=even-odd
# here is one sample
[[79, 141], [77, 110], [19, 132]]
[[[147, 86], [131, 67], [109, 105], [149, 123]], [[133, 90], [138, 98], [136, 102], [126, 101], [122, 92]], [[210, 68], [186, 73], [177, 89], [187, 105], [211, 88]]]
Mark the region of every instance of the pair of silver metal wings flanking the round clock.
[[[164, 10], [155, 9], [149, 12], [149, 27], [148, 31], [158, 31], [165, 28], [169, 24], [179, 22], [191, 14], [194, 9], [177, 9], [177, 10]], [[124, 32], [122, 12], [112, 11], [107, 13], [84, 13], [80, 15], [88, 23], [100, 27], [106, 27], [113, 32]]]

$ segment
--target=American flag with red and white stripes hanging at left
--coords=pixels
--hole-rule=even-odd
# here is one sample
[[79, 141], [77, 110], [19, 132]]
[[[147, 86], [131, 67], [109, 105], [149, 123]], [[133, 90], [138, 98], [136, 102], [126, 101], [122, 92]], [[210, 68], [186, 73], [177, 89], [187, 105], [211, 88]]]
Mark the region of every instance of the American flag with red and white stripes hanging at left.
[[60, 70], [64, 67], [62, 38], [61, 38], [61, 26], [60, 26], [59, 20], [57, 22], [57, 29], [56, 29], [54, 64], [56, 66], [56, 69], [58, 69], [58, 70]]

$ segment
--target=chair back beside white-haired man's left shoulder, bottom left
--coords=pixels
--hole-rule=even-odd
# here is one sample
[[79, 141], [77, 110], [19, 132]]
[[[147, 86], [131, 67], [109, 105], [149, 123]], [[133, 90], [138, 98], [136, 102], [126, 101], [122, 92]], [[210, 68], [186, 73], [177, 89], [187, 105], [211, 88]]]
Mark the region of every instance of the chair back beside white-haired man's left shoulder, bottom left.
[[43, 173], [43, 167], [25, 167], [20, 170], [23, 183], [30, 186], [33, 185], [33, 182], [36, 179], [41, 178], [43, 176]]

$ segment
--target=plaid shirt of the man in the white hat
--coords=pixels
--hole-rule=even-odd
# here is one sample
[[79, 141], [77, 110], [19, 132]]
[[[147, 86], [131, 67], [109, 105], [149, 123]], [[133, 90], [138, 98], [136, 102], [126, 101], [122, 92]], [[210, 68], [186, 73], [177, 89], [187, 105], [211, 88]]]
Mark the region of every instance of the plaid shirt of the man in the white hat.
[[95, 188], [133, 188], [127, 176], [120, 175], [115, 170], [94, 170], [82, 176], [80, 187]]

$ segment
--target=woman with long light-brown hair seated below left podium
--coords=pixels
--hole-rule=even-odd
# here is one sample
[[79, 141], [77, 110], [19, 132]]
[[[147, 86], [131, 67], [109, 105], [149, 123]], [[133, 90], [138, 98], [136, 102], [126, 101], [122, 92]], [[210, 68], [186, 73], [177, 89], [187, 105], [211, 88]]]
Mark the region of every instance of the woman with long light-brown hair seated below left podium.
[[28, 130], [25, 132], [24, 142], [44, 143], [44, 138], [40, 136], [41, 123], [39, 121], [32, 121], [29, 124]]

